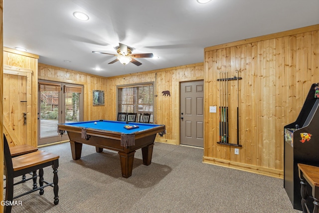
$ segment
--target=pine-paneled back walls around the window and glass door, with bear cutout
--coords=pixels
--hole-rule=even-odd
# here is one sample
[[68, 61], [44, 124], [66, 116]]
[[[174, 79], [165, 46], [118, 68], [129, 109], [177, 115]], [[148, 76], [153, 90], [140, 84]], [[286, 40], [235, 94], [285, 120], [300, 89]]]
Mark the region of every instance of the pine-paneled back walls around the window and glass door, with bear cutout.
[[[166, 135], [156, 141], [170, 144], [179, 144], [179, 82], [204, 78], [203, 63], [108, 78], [40, 63], [38, 70], [38, 79], [84, 85], [84, 120], [116, 120], [117, 85], [155, 82], [155, 123], [166, 125]], [[104, 106], [93, 106], [93, 90], [105, 91]], [[164, 90], [171, 96], [162, 96]]]

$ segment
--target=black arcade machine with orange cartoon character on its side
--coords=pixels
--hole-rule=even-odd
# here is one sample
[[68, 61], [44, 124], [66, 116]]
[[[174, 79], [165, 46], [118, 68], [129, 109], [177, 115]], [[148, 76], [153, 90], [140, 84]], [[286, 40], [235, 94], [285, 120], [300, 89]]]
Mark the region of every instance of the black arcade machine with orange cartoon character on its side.
[[[304, 106], [294, 123], [284, 127], [284, 188], [294, 207], [301, 210], [298, 163], [319, 166], [319, 83], [311, 86]], [[311, 192], [311, 188], [307, 189]], [[310, 190], [310, 191], [309, 191]], [[308, 205], [313, 208], [314, 200]]]

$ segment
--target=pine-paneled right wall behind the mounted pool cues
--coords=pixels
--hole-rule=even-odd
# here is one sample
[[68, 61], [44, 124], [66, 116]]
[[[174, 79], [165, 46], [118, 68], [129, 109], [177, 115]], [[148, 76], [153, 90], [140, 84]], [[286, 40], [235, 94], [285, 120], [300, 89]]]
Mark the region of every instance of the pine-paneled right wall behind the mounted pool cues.
[[239, 155], [216, 143], [219, 114], [206, 113], [203, 161], [283, 178], [284, 126], [319, 82], [319, 24], [207, 47], [204, 55], [205, 112], [219, 106], [220, 74], [243, 79], [228, 82], [229, 139], [237, 143], [238, 106]]

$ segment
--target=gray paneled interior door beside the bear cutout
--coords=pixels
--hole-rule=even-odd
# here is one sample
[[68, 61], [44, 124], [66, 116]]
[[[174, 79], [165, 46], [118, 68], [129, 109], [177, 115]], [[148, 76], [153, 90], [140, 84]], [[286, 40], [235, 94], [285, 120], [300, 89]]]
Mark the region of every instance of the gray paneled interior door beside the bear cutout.
[[180, 83], [180, 143], [204, 146], [204, 82]]

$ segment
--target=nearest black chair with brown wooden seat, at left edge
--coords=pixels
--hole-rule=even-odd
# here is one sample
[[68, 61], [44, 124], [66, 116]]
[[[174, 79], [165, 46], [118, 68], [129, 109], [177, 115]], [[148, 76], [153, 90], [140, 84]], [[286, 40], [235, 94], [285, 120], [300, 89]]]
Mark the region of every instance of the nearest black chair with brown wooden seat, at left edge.
[[[54, 205], [59, 203], [59, 196], [58, 196], [58, 175], [57, 175], [57, 168], [59, 166], [59, 156], [54, 155], [45, 151], [35, 151], [32, 153], [20, 155], [17, 157], [12, 158], [10, 149], [5, 138], [3, 135], [3, 146], [4, 146], [4, 166], [5, 166], [5, 201], [9, 201], [12, 203], [13, 199], [19, 198], [21, 196], [27, 195], [29, 193], [35, 192], [39, 190], [39, 194], [43, 195], [44, 188], [47, 186], [53, 185], [53, 192], [54, 192]], [[43, 180], [43, 168], [52, 166], [53, 168], [53, 183], [46, 183]], [[39, 170], [39, 187], [36, 186], [36, 170]], [[15, 177], [21, 176], [27, 173], [33, 173], [35, 176], [35, 185], [33, 184], [33, 189], [18, 195], [13, 198], [13, 179]], [[46, 185], [43, 186], [43, 183]], [[3, 211], [5, 213], [11, 212], [12, 206], [4, 206]]]

